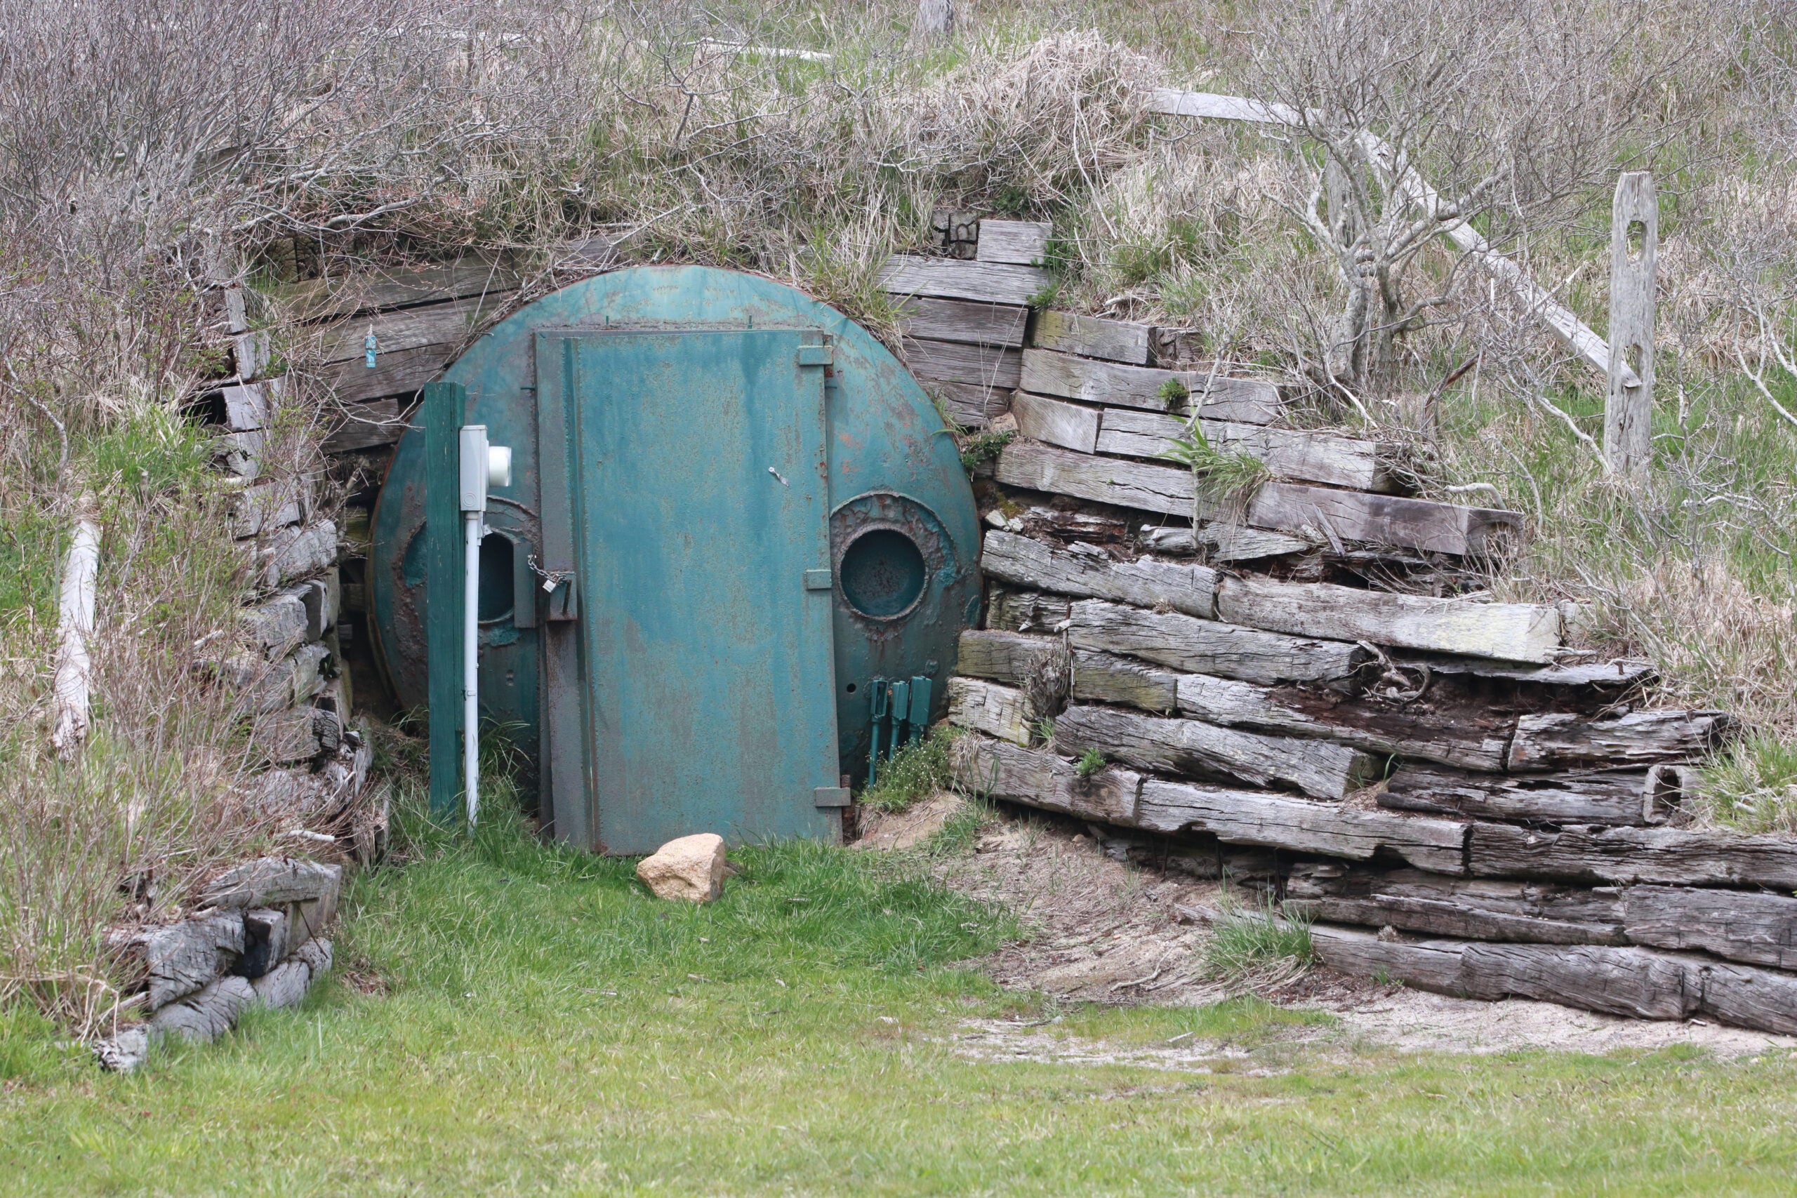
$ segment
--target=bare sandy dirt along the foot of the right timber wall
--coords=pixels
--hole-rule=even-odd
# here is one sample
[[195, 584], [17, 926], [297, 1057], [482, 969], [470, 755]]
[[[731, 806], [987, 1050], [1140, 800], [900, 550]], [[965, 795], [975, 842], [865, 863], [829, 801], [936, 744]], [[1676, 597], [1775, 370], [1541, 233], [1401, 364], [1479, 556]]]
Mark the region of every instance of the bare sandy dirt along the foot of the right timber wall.
[[[1224, 986], [1202, 975], [1209, 929], [1191, 912], [1213, 907], [1220, 885], [1130, 864], [1120, 859], [1114, 844], [1114, 855], [1107, 855], [1102, 835], [1103, 830], [1082, 830], [1073, 821], [1006, 814], [981, 833], [970, 853], [934, 866], [943, 884], [1010, 907], [1028, 929], [1022, 941], [981, 963], [992, 977], [1060, 999], [1118, 1004], [1200, 1006], [1242, 993], [1244, 986]], [[1279, 1006], [1326, 1009], [1337, 1017], [1333, 1026], [1292, 1027], [1288, 1044], [1447, 1053], [1529, 1047], [1612, 1053], [1671, 1045], [1702, 1047], [1718, 1056], [1797, 1051], [1797, 1036], [1705, 1020], [1632, 1020], [1526, 999], [1450, 999], [1328, 968], [1254, 986], [1254, 991]], [[992, 1060], [1116, 1056], [1094, 1045], [1069, 1047], [1067, 1040], [1012, 1024], [969, 1026], [956, 1051]], [[1190, 1056], [1190, 1067], [1211, 1070], [1218, 1060], [1218, 1047], [1204, 1044], [1146, 1053], [1163, 1069], [1186, 1069], [1182, 1061]]]

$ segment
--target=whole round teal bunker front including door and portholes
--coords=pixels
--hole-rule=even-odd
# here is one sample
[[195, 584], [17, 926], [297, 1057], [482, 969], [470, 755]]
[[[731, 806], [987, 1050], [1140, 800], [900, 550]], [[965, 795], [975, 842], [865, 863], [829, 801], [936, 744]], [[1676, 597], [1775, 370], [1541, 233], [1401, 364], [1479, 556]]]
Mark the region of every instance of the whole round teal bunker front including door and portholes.
[[[482, 713], [534, 760], [553, 835], [837, 835], [875, 702], [922, 704], [886, 711], [886, 745], [895, 715], [936, 718], [979, 607], [972, 492], [897, 359], [766, 278], [638, 268], [525, 307], [446, 381], [514, 454], [480, 553]], [[428, 699], [435, 481], [413, 427], [370, 596], [408, 706]]]

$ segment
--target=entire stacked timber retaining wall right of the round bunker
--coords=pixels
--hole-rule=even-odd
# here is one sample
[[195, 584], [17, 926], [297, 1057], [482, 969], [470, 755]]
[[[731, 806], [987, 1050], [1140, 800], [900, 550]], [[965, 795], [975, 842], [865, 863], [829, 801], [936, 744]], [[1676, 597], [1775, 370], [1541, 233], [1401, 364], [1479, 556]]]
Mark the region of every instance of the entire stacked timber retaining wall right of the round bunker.
[[[920, 296], [913, 338], [1017, 329], [1010, 356], [976, 345], [990, 384], [943, 395], [1019, 433], [976, 480], [987, 616], [949, 681], [967, 785], [1265, 887], [1350, 972], [1797, 1033], [1797, 841], [1691, 826], [1725, 715], [1659, 709], [1646, 663], [1571, 648], [1578, 605], [1488, 602], [1477, 559], [1517, 514], [1400, 494], [1394, 447], [1281, 427], [1274, 384], [1175, 357], [1177, 330], [1031, 327], [1040, 280], [983, 269], [888, 269]], [[1233, 507], [1159, 456], [1193, 415], [1265, 467]]]

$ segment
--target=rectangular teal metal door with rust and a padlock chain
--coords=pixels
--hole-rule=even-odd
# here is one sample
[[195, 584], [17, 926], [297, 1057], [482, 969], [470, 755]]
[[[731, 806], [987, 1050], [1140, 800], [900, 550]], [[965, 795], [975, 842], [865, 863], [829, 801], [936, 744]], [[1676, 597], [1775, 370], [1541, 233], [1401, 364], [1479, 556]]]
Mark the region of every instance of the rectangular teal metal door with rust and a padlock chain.
[[[539, 418], [561, 424], [539, 440], [566, 438], [543, 462], [544, 548], [566, 503], [579, 629], [550, 767], [571, 788], [579, 736], [602, 851], [839, 832], [818, 806], [837, 785], [821, 339], [539, 334]], [[579, 727], [557, 686], [582, 691]]]

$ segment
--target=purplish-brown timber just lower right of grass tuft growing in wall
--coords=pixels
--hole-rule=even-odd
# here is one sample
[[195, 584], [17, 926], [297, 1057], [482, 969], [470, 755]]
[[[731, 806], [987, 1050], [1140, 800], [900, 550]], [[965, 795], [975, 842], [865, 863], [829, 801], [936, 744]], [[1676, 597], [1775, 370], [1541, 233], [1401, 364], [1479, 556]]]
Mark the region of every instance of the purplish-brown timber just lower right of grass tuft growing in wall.
[[[1215, 512], [1200, 515], [1208, 519]], [[1466, 557], [1484, 553], [1493, 533], [1520, 526], [1522, 515], [1432, 499], [1265, 483], [1249, 503], [1247, 523], [1279, 532], [1315, 528], [1324, 535], [1333, 533], [1335, 541], [1366, 541]]]

